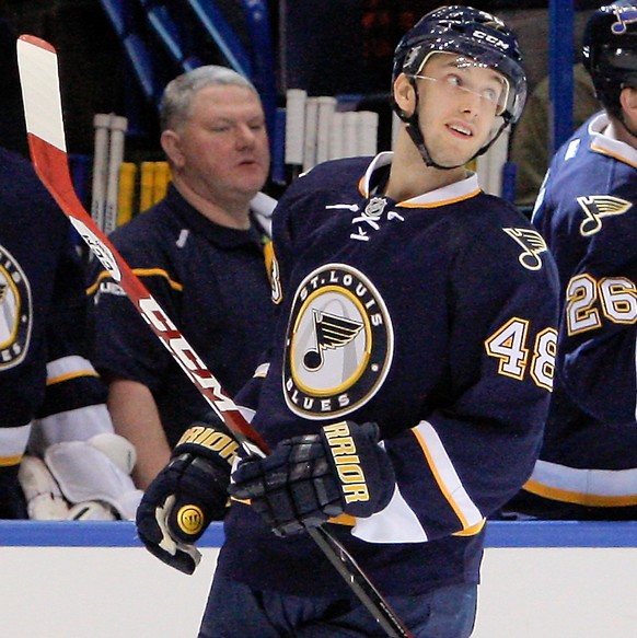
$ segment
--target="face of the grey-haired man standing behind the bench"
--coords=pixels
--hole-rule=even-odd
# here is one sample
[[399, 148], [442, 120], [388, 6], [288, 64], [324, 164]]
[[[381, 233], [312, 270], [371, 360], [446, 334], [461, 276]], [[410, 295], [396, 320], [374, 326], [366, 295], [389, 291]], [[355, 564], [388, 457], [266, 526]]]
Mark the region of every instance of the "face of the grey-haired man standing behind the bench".
[[252, 198], [265, 184], [270, 162], [265, 117], [250, 89], [201, 89], [177, 134], [182, 177], [206, 199]]

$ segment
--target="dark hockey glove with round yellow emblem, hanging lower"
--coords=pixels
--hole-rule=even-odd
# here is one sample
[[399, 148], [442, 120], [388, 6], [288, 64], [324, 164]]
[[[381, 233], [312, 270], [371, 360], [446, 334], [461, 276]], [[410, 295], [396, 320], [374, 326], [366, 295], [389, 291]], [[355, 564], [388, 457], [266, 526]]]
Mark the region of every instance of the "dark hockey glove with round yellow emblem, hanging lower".
[[225, 514], [238, 448], [221, 422], [197, 422], [184, 432], [137, 510], [137, 532], [151, 554], [179, 571], [195, 571], [200, 554], [193, 543]]

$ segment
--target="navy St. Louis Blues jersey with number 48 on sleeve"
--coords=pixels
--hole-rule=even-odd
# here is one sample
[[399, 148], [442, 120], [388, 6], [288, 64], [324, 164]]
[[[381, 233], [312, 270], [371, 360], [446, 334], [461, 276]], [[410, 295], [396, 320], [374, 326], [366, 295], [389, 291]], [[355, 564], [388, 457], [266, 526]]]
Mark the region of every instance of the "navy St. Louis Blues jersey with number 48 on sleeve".
[[[392, 153], [328, 162], [274, 214], [279, 318], [269, 368], [240, 395], [270, 445], [377, 421], [390, 504], [331, 525], [385, 594], [477, 582], [484, 521], [528, 478], [553, 379], [557, 275], [540, 233], [475, 175], [394, 201]], [[308, 537], [234, 503], [218, 569], [258, 589], [346, 588]]]

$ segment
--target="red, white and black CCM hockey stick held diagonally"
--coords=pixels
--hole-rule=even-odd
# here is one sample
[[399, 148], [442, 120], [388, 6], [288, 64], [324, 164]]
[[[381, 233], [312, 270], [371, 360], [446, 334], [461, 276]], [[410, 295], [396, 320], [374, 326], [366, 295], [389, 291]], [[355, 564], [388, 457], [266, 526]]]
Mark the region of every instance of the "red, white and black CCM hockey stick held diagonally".
[[[265, 455], [268, 452], [265, 441], [243, 418], [234, 402], [225, 395], [217, 379], [78, 199], [69, 172], [55, 48], [35, 36], [22, 35], [18, 40], [18, 63], [28, 147], [43, 184], [219, 418], [244, 449]], [[323, 527], [308, 532], [387, 636], [412, 637], [345, 547]]]

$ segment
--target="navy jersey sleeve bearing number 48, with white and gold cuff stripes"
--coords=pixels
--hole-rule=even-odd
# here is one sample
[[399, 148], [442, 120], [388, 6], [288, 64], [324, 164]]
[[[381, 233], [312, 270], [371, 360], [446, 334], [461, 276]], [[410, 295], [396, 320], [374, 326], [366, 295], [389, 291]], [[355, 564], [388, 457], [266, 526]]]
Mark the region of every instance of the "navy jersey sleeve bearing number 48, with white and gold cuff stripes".
[[397, 484], [385, 510], [357, 520], [354, 534], [366, 541], [476, 533], [537, 459], [554, 372], [555, 265], [524, 225], [476, 244], [452, 274], [447, 386], [415, 427], [384, 440]]

